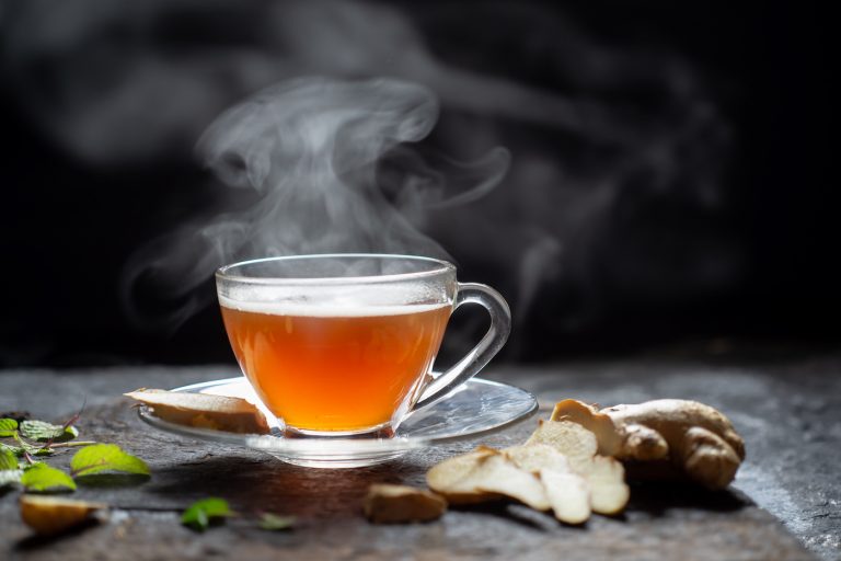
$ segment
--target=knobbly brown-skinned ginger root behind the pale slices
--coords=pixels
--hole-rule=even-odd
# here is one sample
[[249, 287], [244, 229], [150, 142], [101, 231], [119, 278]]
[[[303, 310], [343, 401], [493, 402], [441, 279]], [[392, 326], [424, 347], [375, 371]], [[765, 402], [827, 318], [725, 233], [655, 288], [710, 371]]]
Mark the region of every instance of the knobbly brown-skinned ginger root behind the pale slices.
[[745, 443], [730, 421], [696, 401], [661, 399], [598, 410], [564, 400], [551, 419], [591, 431], [601, 454], [622, 460], [641, 479], [686, 476], [708, 489], [724, 489], [745, 459]]

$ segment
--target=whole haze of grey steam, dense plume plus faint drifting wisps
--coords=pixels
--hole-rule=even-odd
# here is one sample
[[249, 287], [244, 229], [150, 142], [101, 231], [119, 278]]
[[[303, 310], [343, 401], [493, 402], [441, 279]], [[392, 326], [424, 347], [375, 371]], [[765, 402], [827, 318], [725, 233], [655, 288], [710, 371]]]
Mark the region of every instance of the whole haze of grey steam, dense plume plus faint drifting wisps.
[[[443, 254], [420, 229], [484, 267], [519, 327], [716, 294], [744, 263], [722, 227], [721, 77], [665, 43], [606, 41], [550, 3], [27, 0], [3, 15], [9, 95], [96, 169], [181, 162], [234, 100], [303, 73], [337, 79], [283, 82], [201, 137], [239, 188], [228, 214], [131, 257], [123, 294], [141, 323], [184, 321], [212, 297], [197, 289], [209, 273], [238, 259]], [[375, 76], [394, 80], [341, 81]], [[447, 115], [428, 144], [465, 159], [511, 147], [500, 188], [506, 152], [463, 164], [414, 144], [436, 119], [430, 92]]]

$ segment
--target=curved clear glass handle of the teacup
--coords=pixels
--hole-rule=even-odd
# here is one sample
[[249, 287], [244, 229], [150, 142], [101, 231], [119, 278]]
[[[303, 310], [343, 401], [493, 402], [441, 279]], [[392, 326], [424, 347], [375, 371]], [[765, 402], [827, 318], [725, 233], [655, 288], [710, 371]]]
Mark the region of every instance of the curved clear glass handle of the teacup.
[[479, 374], [508, 340], [511, 332], [511, 311], [499, 293], [477, 283], [459, 283], [452, 305], [453, 311], [462, 304], [477, 304], [485, 308], [491, 314], [491, 327], [470, 353], [426, 387], [413, 411], [446, 398], [452, 390]]

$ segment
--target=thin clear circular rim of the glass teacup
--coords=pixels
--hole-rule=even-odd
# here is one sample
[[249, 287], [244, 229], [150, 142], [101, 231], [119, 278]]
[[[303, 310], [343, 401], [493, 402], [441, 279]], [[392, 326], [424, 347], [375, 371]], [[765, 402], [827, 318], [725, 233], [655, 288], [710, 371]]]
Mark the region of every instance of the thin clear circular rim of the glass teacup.
[[[394, 273], [384, 275], [365, 275], [365, 276], [326, 276], [326, 277], [283, 277], [283, 276], [247, 276], [229, 273], [234, 267], [253, 265], [257, 263], [267, 263], [272, 261], [295, 261], [295, 260], [316, 260], [316, 259], [403, 259], [411, 261], [424, 261], [437, 264], [437, 267], [429, 271], [417, 271], [413, 273]], [[394, 283], [405, 280], [418, 280], [435, 277], [441, 274], [454, 273], [456, 265], [448, 261], [425, 255], [403, 255], [399, 253], [309, 253], [296, 255], [279, 255], [273, 257], [258, 257], [245, 261], [238, 261], [228, 265], [222, 265], [216, 270], [218, 280], [237, 282], [253, 285], [347, 285], [347, 284], [373, 284], [373, 283]]]

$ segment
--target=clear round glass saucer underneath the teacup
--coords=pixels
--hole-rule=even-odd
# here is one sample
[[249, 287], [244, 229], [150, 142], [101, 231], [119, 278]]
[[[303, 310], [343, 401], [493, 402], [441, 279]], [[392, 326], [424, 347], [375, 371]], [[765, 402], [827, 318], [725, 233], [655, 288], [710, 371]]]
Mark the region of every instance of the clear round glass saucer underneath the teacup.
[[244, 377], [194, 383], [171, 391], [243, 398], [266, 413], [272, 433], [238, 434], [180, 425], [152, 415], [145, 405], [138, 409], [140, 419], [169, 433], [244, 446], [265, 451], [288, 463], [315, 468], [353, 468], [380, 463], [410, 450], [500, 431], [538, 410], [538, 400], [526, 390], [473, 378], [441, 401], [410, 413], [393, 438], [285, 438], [280, 423], [265, 410]]

